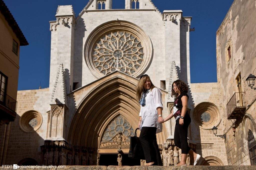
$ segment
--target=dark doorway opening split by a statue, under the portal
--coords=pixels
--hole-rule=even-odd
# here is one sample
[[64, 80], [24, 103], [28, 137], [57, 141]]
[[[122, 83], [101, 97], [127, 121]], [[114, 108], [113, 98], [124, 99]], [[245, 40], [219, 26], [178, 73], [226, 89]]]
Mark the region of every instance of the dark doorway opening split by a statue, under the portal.
[[[118, 154], [100, 154], [99, 165], [109, 166], [109, 165], [118, 165], [117, 162]], [[128, 158], [128, 154], [122, 154], [122, 166], [140, 166], [141, 161], [138, 159]]]

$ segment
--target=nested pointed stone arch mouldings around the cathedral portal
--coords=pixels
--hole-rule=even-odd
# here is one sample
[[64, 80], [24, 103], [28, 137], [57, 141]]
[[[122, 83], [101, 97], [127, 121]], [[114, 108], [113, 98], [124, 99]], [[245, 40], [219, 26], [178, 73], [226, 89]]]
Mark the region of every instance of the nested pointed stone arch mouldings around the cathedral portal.
[[[68, 132], [67, 140], [71, 145], [99, 148], [104, 129], [118, 114], [136, 129], [140, 105], [135, 99], [136, 83], [133, 82], [137, 79], [120, 72], [114, 74], [118, 76], [109, 76], [80, 102]], [[163, 144], [166, 138], [167, 130], [163, 126], [163, 132], [157, 134], [158, 143]]]

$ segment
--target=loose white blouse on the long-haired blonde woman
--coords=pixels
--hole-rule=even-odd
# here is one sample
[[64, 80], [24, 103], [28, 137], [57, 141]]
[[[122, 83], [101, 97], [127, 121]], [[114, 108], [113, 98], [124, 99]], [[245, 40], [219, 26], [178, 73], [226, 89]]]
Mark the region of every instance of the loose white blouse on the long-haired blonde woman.
[[141, 106], [139, 116], [142, 117], [142, 127], [156, 127], [156, 133], [162, 132], [163, 125], [157, 122], [158, 114], [156, 108], [163, 108], [162, 93], [158, 88], [153, 88], [146, 96], [146, 105]]

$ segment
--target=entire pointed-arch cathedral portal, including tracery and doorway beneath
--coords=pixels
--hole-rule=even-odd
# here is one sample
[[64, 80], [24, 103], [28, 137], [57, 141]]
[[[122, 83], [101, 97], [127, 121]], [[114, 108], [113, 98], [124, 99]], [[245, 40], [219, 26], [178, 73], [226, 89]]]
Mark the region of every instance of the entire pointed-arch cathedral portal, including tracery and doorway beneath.
[[[137, 128], [140, 105], [135, 99], [135, 89], [138, 80], [120, 72], [114, 74], [116, 76], [105, 77], [106, 80], [80, 102], [68, 132], [68, 142], [86, 148], [81, 149], [81, 155], [88, 154], [93, 165], [102, 164], [104, 157], [111, 159], [108, 163], [117, 163], [119, 153], [122, 153], [122, 162], [127, 161], [129, 138]], [[157, 134], [158, 144], [163, 144], [166, 138], [167, 130], [163, 125], [163, 132]]]

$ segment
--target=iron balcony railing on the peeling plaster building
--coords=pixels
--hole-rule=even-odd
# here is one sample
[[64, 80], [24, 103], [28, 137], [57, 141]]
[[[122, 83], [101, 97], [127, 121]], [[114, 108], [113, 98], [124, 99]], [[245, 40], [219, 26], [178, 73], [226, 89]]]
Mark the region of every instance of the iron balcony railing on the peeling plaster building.
[[[228, 119], [232, 117], [233, 113], [236, 110], [241, 110], [239, 108], [245, 107], [245, 102], [244, 102], [244, 92], [236, 92], [234, 95], [231, 97], [227, 104], [227, 115]], [[237, 114], [237, 112], [236, 112]], [[241, 115], [240, 115], [241, 116]]]

